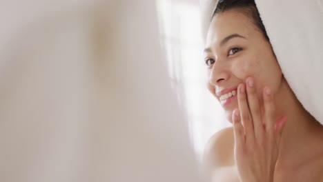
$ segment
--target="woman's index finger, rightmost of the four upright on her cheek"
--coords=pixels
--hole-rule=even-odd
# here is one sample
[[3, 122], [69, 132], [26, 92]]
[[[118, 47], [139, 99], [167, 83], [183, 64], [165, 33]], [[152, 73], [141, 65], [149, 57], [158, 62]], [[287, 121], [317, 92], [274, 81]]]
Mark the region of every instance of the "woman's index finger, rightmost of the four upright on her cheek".
[[265, 87], [263, 90], [264, 97], [264, 121], [266, 124], [266, 132], [273, 134], [275, 132], [275, 105], [273, 102], [273, 94], [271, 89]]

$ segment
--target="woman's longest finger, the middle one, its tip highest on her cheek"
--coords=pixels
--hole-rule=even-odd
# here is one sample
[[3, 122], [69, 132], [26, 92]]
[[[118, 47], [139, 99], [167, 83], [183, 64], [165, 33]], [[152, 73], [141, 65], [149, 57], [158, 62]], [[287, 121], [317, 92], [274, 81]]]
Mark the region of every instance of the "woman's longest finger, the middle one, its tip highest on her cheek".
[[255, 89], [255, 82], [251, 77], [248, 77], [248, 79], [246, 79], [246, 90], [249, 110], [251, 112], [251, 118], [255, 130], [255, 137], [257, 139], [261, 139], [264, 134], [264, 126], [262, 125], [262, 115], [260, 110], [260, 103], [257, 97], [257, 90]]

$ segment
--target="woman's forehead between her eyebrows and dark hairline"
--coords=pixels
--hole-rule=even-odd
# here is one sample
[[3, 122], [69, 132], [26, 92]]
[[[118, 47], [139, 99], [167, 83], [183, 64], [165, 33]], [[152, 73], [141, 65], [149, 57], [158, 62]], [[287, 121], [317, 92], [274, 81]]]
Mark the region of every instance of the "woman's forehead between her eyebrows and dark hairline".
[[248, 39], [257, 32], [252, 19], [246, 14], [239, 10], [227, 10], [213, 17], [208, 28], [206, 45], [219, 44], [219, 41], [230, 34], [240, 34]]

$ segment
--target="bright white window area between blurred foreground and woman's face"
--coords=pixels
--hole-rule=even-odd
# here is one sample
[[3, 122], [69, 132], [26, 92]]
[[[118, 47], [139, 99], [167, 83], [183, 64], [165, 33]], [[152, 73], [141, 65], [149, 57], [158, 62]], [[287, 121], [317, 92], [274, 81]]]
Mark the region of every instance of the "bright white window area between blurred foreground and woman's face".
[[186, 108], [195, 152], [201, 156], [208, 139], [231, 124], [206, 88], [199, 0], [157, 0], [157, 10], [169, 76]]

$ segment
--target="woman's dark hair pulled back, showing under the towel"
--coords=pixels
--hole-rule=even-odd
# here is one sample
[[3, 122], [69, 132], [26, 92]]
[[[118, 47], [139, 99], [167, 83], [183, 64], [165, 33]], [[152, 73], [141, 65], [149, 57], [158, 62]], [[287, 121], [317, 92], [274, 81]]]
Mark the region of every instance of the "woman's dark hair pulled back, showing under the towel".
[[264, 37], [269, 41], [269, 37], [267, 35], [264, 24], [262, 23], [262, 19], [260, 18], [260, 13], [258, 12], [257, 6], [255, 4], [255, 0], [219, 0], [217, 3], [217, 8], [215, 8], [215, 14], [219, 14], [220, 12], [225, 12], [227, 10], [237, 9], [240, 12], [244, 13], [246, 16], [253, 19], [253, 23], [255, 26], [264, 34]]

